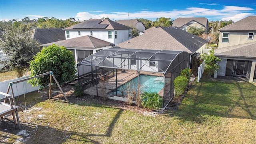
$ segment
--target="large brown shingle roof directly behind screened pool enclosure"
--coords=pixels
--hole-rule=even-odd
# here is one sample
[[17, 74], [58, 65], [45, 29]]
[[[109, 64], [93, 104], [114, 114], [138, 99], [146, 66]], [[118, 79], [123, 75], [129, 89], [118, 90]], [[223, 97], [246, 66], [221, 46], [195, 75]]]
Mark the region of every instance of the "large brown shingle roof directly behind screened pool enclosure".
[[206, 40], [174, 27], [159, 27], [118, 44], [120, 48], [179, 50], [193, 54]]

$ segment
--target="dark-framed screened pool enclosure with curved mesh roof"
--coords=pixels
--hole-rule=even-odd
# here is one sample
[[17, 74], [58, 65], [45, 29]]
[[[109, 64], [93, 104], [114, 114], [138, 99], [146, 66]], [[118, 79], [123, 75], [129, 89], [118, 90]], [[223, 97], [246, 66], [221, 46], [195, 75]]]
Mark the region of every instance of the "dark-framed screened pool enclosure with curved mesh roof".
[[78, 63], [78, 83], [88, 85], [87, 94], [117, 100], [157, 92], [165, 108], [174, 96], [173, 80], [189, 67], [183, 51], [109, 48]]

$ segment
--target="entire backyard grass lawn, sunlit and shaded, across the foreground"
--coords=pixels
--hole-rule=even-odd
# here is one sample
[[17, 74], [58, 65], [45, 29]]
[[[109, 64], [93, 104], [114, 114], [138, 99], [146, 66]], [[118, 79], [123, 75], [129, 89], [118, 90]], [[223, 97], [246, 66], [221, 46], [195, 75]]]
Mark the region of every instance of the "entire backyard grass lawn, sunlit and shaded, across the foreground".
[[[47, 90], [46, 90], [47, 91]], [[72, 104], [26, 94], [21, 130], [1, 123], [2, 143], [254, 143], [256, 86], [246, 82], [194, 82], [178, 111], [157, 116], [108, 105], [98, 98], [68, 96]], [[20, 97], [24, 102], [23, 97]], [[18, 100], [17, 100], [18, 101]], [[24, 106], [24, 104], [22, 104]], [[136, 107], [136, 106], [134, 106]], [[23, 107], [24, 109], [24, 107]], [[8, 122], [5, 122], [8, 123]], [[6, 128], [4, 130], [3, 128]], [[18, 132], [23, 134], [18, 134]]]

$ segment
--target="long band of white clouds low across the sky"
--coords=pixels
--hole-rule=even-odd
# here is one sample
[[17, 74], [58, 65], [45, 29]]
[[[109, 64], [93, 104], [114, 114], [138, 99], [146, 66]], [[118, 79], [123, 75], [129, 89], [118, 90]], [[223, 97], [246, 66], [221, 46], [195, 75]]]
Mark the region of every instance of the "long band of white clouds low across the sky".
[[[217, 4], [217, 3], [212, 3]], [[179, 17], [206, 17], [212, 18], [211, 20], [233, 20], [234, 22], [245, 18], [248, 15], [253, 15], [248, 13], [254, 9], [248, 7], [239, 6], [223, 6], [222, 9], [210, 9], [210, 8], [199, 8], [199, 7], [188, 7], [184, 10], [170, 10], [170, 11], [138, 11], [138, 12], [110, 12], [101, 14], [92, 14], [89, 12], [78, 12], [76, 17], [79, 20], [88, 20], [90, 18], [100, 19], [100, 18], [110, 18], [111, 20], [121, 20], [121, 19], [135, 19], [135, 18], [145, 18], [155, 20], [156, 18], [165, 17], [171, 18], [172, 20]]]

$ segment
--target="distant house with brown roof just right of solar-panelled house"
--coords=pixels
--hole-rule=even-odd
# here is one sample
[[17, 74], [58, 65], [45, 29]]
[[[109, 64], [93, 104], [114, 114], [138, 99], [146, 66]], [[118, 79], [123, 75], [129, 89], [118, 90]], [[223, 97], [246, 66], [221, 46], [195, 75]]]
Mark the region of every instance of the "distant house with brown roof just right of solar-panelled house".
[[142, 32], [142, 31], [145, 30], [144, 24], [141, 21], [137, 20], [137, 19], [134, 19], [134, 20], [118, 20], [116, 22], [118, 22], [119, 24], [123, 24], [125, 26], [132, 27], [132, 28], [137, 28], [139, 32]]

